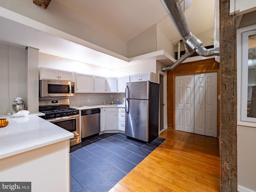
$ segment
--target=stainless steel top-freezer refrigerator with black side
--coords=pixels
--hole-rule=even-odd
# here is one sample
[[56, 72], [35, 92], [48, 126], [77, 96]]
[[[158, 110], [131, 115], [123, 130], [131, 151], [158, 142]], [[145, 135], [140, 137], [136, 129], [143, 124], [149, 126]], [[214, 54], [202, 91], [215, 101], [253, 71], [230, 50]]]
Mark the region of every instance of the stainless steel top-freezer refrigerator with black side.
[[158, 137], [159, 84], [130, 82], [125, 95], [125, 135], [151, 142]]

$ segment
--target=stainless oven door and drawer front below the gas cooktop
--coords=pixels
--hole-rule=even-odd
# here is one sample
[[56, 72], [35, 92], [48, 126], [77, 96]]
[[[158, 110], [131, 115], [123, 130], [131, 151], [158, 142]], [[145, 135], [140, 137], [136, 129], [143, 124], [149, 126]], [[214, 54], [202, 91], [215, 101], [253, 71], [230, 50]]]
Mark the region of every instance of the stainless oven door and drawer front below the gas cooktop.
[[48, 121], [74, 134], [74, 138], [70, 139], [70, 146], [80, 143], [79, 115], [49, 119]]

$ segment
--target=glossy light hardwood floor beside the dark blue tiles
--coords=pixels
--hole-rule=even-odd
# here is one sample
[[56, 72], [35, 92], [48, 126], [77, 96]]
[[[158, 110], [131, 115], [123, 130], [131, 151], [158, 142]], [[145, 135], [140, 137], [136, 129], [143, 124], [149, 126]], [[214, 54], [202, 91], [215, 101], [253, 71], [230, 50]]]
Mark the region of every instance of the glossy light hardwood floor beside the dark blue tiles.
[[158, 148], [110, 192], [218, 192], [220, 153], [217, 138], [165, 130]]

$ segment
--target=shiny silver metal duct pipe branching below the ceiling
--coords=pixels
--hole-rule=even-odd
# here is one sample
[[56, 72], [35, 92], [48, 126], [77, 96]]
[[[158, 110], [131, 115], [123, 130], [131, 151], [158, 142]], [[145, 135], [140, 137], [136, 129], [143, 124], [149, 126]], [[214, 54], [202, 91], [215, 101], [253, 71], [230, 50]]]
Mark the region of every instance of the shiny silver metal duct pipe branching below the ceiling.
[[[195, 51], [198, 55], [208, 57], [208, 56], [218, 56], [220, 55], [220, 48], [206, 49], [203, 43], [190, 31], [188, 24], [186, 22], [185, 15], [183, 13], [182, 7], [180, 6], [179, 0], [161, 0], [166, 12], [172, 19], [172, 22], [176, 26], [176, 29], [180, 33], [183, 42], [186, 43], [186, 48], [189, 54], [184, 54], [180, 59], [178, 59], [172, 66], [174, 67], [164, 67], [163, 71], [167, 71], [166, 68], [170, 70], [174, 69], [186, 58], [190, 57]], [[192, 54], [191, 54], [192, 53]], [[182, 60], [182, 61], [180, 61]]]

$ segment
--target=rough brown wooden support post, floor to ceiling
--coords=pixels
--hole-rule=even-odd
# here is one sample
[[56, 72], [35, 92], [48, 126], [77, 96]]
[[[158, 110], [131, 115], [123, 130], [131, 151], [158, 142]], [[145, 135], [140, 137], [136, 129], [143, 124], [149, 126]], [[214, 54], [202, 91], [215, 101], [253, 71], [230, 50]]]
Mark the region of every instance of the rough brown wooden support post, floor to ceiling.
[[236, 15], [220, 0], [220, 191], [237, 191]]

